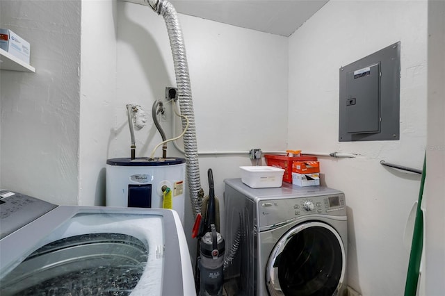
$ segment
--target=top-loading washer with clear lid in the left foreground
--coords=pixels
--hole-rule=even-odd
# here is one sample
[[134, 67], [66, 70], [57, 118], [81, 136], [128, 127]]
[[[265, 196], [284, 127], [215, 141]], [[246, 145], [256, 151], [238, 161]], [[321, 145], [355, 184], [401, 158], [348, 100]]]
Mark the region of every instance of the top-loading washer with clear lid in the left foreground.
[[175, 211], [0, 191], [0, 295], [196, 295]]

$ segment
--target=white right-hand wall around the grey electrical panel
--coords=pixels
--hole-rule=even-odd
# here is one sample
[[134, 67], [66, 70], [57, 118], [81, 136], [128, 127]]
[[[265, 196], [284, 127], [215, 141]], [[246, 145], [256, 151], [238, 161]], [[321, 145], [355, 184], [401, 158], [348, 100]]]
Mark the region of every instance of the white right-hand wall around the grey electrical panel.
[[[329, 1], [289, 38], [289, 148], [321, 158], [322, 183], [348, 205], [348, 281], [362, 295], [403, 295], [405, 233], [426, 145], [426, 1]], [[339, 68], [401, 41], [401, 140], [339, 142]]]

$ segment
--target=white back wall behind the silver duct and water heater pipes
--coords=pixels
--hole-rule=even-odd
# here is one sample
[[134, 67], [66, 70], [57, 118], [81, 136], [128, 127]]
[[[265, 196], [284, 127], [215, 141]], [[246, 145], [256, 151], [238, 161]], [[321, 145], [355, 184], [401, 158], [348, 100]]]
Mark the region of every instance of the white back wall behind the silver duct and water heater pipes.
[[[216, 195], [223, 199], [223, 179], [241, 176], [252, 148], [284, 150], [287, 123], [287, 38], [179, 15], [191, 76], [198, 151], [246, 151], [236, 156], [200, 156], [202, 188], [209, 192], [213, 170]], [[167, 30], [151, 9], [118, 2], [118, 90], [113, 108], [115, 135], [108, 158], [129, 157], [125, 104], [151, 113], [165, 86], [175, 86]], [[171, 108], [161, 125], [170, 138]], [[161, 137], [151, 118], [136, 131], [136, 156], [149, 156]], [[168, 144], [169, 156], [183, 156]], [[161, 156], [161, 149], [155, 156]], [[186, 211], [186, 235], [191, 233]], [[193, 242], [195, 244], [196, 242]], [[193, 251], [192, 251], [193, 253]]]

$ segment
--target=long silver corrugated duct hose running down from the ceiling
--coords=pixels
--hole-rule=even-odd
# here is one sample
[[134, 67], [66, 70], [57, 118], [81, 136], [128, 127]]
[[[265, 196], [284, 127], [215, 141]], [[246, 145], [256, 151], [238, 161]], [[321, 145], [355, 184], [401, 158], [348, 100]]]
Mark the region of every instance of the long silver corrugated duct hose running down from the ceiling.
[[[177, 18], [177, 13], [172, 4], [165, 0], [160, 0], [150, 6], [153, 10], [162, 15], [167, 26], [168, 38], [172, 49], [173, 64], [175, 65], [176, 84], [178, 89], [179, 108], [181, 114], [188, 117], [188, 129], [184, 134], [184, 151], [186, 158], [186, 172], [188, 190], [192, 204], [192, 211], [196, 216], [201, 212], [202, 199], [198, 197], [201, 189], [200, 167], [197, 159], [197, 141], [195, 129], [195, 115], [193, 113], [193, 101], [188, 74], [188, 63], [186, 57], [186, 47], [182, 38], [181, 26]], [[182, 119], [182, 128], [185, 129], [186, 120]]]

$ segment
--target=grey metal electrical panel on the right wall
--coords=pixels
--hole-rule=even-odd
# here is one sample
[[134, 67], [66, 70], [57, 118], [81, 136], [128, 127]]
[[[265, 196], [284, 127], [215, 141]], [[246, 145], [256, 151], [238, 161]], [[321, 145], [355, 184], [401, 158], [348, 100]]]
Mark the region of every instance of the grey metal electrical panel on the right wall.
[[340, 142], [400, 139], [400, 46], [340, 68]]

